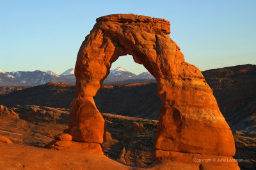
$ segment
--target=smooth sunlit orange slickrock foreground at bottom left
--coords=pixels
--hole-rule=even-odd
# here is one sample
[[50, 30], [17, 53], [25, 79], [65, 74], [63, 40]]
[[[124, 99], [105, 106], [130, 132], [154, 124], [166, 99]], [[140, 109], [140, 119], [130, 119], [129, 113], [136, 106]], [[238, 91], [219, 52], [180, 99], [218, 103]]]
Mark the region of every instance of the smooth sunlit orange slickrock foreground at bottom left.
[[132, 169], [104, 155], [20, 144], [0, 143], [0, 155], [0, 169]]

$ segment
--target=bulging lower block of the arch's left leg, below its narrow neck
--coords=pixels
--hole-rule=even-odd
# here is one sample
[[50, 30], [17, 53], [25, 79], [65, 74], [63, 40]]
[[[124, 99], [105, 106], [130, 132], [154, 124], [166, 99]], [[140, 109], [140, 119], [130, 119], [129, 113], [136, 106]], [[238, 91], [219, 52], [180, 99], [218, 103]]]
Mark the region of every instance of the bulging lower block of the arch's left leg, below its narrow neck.
[[71, 102], [68, 134], [82, 143], [103, 143], [105, 121], [94, 104], [93, 98], [77, 97]]

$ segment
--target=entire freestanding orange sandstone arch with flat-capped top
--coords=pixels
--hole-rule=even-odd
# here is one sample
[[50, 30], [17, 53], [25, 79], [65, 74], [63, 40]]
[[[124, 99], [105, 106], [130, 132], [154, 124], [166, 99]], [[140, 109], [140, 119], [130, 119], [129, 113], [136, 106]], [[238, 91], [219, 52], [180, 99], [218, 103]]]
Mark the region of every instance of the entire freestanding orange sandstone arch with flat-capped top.
[[77, 54], [77, 98], [72, 101], [68, 123], [72, 140], [103, 143], [104, 119], [93, 96], [108, 76], [111, 63], [129, 54], [156, 78], [163, 102], [155, 143], [157, 159], [235, 154], [232, 132], [212, 90], [168, 36], [168, 20], [117, 14], [96, 21]]

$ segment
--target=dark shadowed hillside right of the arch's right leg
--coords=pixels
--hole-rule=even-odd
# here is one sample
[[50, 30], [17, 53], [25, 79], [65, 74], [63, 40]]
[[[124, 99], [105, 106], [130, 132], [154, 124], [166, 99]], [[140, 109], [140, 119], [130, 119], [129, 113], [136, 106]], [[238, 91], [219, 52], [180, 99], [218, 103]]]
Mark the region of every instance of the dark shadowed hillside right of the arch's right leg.
[[240, 65], [202, 72], [229, 125], [256, 113], [256, 65]]

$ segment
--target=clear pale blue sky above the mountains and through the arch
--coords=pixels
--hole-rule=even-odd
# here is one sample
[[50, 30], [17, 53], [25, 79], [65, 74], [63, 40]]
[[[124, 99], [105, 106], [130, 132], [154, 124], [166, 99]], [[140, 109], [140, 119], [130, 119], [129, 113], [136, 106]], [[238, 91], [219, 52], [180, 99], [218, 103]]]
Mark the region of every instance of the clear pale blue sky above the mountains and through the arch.
[[[256, 64], [256, 1], [8, 1], [0, 0], [0, 69], [6, 72], [74, 68], [95, 19], [134, 13], [167, 19], [170, 37], [200, 70]], [[122, 66], [145, 72], [122, 56]]]

